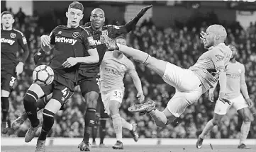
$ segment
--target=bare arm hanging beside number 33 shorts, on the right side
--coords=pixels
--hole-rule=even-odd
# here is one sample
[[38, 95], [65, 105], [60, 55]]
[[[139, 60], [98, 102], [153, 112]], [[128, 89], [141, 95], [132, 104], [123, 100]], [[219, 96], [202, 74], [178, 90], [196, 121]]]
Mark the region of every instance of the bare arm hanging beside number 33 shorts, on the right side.
[[133, 83], [135, 88], [137, 89], [137, 98], [139, 99], [140, 103], [144, 101], [145, 96], [143, 95], [143, 88], [141, 86], [140, 78], [137, 74], [137, 71], [135, 69], [130, 69], [129, 71], [130, 77], [133, 79]]

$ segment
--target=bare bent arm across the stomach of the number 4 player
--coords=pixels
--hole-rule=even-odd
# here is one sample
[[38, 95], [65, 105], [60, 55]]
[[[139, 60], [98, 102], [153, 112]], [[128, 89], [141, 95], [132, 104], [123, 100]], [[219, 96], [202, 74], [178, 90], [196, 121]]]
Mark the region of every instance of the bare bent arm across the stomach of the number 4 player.
[[69, 68], [74, 66], [77, 63], [81, 64], [94, 64], [99, 62], [99, 54], [96, 48], [89, 49], [89, 56], [88, 57], [69, 57], [63, 64], [65, 68]]

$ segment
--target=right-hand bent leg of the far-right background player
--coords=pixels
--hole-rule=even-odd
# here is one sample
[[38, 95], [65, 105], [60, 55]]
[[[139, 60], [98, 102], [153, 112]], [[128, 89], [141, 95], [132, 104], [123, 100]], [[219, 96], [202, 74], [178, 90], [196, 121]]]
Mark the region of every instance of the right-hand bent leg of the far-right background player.
[[240, 134], [240, 144], [238, 148], [249, 148], [245, 145], [245, 140], [247, 138], [247, 135], [249, 134], [250, 124], [253, 121], [253, 117], [248, 107], [238, 110], [238, 114], [243, 117], [243, 124], [241, 126]]

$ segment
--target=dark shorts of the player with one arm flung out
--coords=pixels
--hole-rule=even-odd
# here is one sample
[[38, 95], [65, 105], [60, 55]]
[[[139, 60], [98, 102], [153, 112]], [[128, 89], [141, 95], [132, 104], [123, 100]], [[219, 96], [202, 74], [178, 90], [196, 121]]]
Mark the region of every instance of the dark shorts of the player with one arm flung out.
[[96, 78], [95, 74], [91, 76], [84, 76], [79, 73], [78, 85], [80, 86], [80, 90], [83, 96], [91, 91], [99, 93], [98, 78]]

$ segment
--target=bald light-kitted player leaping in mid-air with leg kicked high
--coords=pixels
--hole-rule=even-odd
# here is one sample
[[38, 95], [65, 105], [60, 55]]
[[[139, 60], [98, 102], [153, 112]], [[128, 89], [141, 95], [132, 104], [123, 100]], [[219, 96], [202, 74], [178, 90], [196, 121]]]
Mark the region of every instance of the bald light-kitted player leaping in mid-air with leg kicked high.
[[166, 83], [176, 88], [176, 93], [163, 112], [155, 109], [155, 102], [152, 100], [128, 108], [130, 112], [150, 113], [157, 126], [163, 127], [182, 115], [186, 107], [196, 102], [218, 79], [221, 86], [219, 99], [223, 103], [229, 102], [226, 98], [225, 66], [230, 60], [232, 51], [223, 43], [226, 37], [227, 33], [222, 25], [209, 26], [204, 36], [204, 46], [208, 51], [204, 52], [196, 64], [189, 69], [182, 69], [169, 62], [155, 59], [138, 49], [120, 45], [106, 35], [101, 36], [101, 41], [106, 43], [108, 49], [118, 49], [133, 57], [135, 61], [145, 64]]

